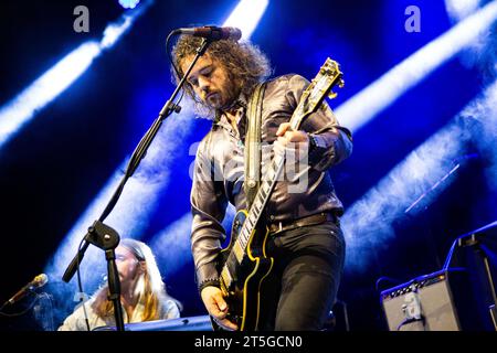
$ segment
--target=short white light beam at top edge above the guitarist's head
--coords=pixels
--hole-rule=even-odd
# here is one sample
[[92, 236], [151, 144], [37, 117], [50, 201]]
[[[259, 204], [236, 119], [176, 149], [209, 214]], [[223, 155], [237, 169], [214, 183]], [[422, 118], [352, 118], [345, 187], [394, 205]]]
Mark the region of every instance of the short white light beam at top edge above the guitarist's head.
[[242, 31], [242, 40], [250, 40], [268, 3], [268, 0], [242, 0], [224, 21], [223, 25], [240, 29]]

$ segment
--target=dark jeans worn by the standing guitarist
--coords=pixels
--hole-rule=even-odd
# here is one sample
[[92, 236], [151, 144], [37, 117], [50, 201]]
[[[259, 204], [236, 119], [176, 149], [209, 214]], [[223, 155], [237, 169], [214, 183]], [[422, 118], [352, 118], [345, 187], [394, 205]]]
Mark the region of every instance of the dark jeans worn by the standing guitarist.
[[266, 255], [274, 268], [261, 291], [261, 330], [321, 330], [343, 269], [343, 233], [325, 222], [268, 237]]

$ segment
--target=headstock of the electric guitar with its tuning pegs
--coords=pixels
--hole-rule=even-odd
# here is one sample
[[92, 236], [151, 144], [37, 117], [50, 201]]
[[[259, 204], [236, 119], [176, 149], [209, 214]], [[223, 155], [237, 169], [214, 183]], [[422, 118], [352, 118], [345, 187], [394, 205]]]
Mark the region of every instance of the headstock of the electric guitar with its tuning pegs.
[[337, 93], [331, 89], [336, 85], [340, 88], [343, 87], [345, 82], [342, 76], [343, 74], [340, 71], [340, 65], [328, 57], [303, 94], [303, 114], [309, 115], [316, 111], [326, 96], [334, 99], [337, 96]]

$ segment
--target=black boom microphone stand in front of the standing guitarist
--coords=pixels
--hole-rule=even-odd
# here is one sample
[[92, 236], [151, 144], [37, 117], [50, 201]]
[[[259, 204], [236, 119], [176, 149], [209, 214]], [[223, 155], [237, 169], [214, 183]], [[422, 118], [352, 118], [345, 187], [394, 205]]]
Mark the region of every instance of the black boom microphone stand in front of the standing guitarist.
[[120, 194], [123, 193], [124, 186], [128, 179], [135, 173], [136, 169], [138, 168], [139, 163], [144, 159], [145, 154], [147, 153], [148, 148], [150, 147], [150, 143], [152, 142], [154, 138], [156, 137], [157, 132], [159, 131], [160, 126], [162, 125], [162, 121], [166, 120], [173, 111], [180, 113], [181, 107], [173, 103], [176, 97], [178, 96], [181, 87], [184, 85], [184, 82], [187, 81], [188, 75], [192, 71], [194, 64], [199, 60], [200, 56], [202, 56], [207, 49], [209, 47], [209, 44], [211, 43], [211, 40], [209, 39], [202, 39], [202, 43], [197, 49], [197, 54], [191, 62], [190, 66], [188, 67], [187, 72], [184, 73], [183, 77], [179, 82], [178, 86], [176, 87], [175, 92], [172, 93], [169, 100], [165, 104], [162, 109], [159, 113], [159, 116], [156, 118], [151, 127], [148, 129], [148, 131], [145, 133], [145, 136], [141, 138], [140, 142], [136, 147], [135, 151], [133, 152], [133, 156], [129, 160], [129, 163], [126, 168], [125, 175], [123, 176], [119, 185], [117, 186], [116, 191], [114, 192], [114, 195], [112, 196], [110, 201], [108, 202], [107, 206], [105, 207], [102, 215], [98, 217], [97, 221], [94, 222], [94, 224], [88, 227], [88, 233], [84, 236], [84, 244], [80, 247], [77, 250], [77, 254], [74, 256], [71, 264], [67, 266], [62, 279], [65, 282], [68, 282], [71, 278], [73, 278], [76, 268], [78, 268], [80, 263], [83, 260], [83, 257], [85, 255], [86, 249], [88, 248], [89, 244], [93, 244], [102, 249], [105, 250], [105, 258], [107, 260], [107, 271], [108, 271], [108, 289], [109, 289], [109, 296], [108, 299], [113, 301], [114, 303], [114, 313], [116, 319], [116, 329], [117, 331], [124, 331], [124, 320], [123, 320], [123, 308], [120, 306], [120, 282], [119, 282], [119, 276], [117, 272], [117, 267], [115, 263], [116, 254], [114, 249], [119, 244], [119, 235], [115, 229], [104, 224], [105, 218], [108, 216], [108, 214], [113, 211], [115, 207], [117, 201], [119, 200]]

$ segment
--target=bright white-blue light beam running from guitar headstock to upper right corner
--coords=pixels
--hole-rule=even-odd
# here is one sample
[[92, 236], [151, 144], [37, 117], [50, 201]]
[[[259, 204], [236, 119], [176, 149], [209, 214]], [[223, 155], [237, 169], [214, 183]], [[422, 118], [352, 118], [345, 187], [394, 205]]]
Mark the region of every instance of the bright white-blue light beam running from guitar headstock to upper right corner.
[[435, 68], [474, 43], [496, 19], [497, 0], [494, 0], [337, 107], [336, 115], [357, 131]]

